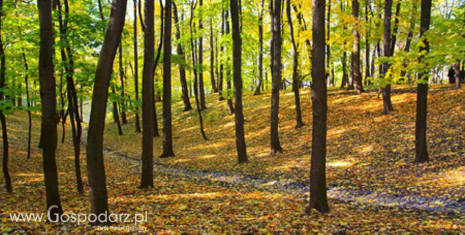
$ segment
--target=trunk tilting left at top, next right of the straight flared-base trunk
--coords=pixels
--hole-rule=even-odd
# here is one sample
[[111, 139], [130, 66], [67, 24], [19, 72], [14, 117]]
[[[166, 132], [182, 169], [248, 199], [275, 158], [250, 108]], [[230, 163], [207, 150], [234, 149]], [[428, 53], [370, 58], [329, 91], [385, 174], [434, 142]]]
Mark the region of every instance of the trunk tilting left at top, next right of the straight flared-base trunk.
[[[181, 38], [181, 31], [179, 29], [179, 21], [177, 17], [177, 8], [176, 4], [173, 2], [173, 17], [174, 17], [174, 26], [176, 27], [176, 40], [179, 41]], [[177, 43], [176, 45], [176, 52], [177, 55], [185, 61], [185, 55], [182, 50], [181, 43]], [[184, 102], [184, 112], [189, 111], [192, 109], [191, 101], [189, 100], [189, 91], [188, 91], [188, 83], [185, 80], [185, 68], [183, 65], [179, 65], [179, 79], [181, 80], [181, 87], [182, 87], [182, 101]]]

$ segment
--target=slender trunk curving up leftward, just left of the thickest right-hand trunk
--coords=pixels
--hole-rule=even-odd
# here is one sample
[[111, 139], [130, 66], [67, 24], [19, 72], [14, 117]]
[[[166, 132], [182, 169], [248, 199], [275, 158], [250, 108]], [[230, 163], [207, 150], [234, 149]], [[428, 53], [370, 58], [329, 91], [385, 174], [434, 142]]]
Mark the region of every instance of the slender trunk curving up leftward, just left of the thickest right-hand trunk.
[[[286, 14], [288, 16], [288, 25], [289, 25], [289, 38], [291, 40], [292, 48], [292, 90], [294, 91], [294, 98], [296, 104], [296, 128], [300, 128], [304, 125], [302, 121], [302, 111], [300, 109], [300, 95], [299, 95], [299, 76], [297, 74], [297, 67], [299, 65], [299, 54], [294, 39], [294, 27], [292, 26], [292, 16], [291, 16], [291, 0], [286, 1]], [[329, 49], [329, 47], [327, 47]]]

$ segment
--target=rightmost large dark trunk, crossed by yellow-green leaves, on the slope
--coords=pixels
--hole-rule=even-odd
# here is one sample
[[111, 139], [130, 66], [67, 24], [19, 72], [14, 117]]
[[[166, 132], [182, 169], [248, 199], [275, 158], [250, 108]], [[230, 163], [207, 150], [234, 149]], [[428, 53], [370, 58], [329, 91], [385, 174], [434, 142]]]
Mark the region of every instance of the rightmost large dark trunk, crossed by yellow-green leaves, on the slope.
[[[420, 53], [428, 53], [430, 46], [428, 39], [424, 36], [430, 29], [431, 20], [431, 0], [422, 0], [420, 13], [420, 37], [422, 44], [420, 46]], [[422, 62], [424, 55], [420, 56]], [[416, 90], [416, 119], [415, 119], [415, 162], [422, 163], [429, 160], [428, 149], [426, 142], [426, 118], [428, 114], [428, 73], [425, 69], [419, 74], [420, 80], [418, 81]]]

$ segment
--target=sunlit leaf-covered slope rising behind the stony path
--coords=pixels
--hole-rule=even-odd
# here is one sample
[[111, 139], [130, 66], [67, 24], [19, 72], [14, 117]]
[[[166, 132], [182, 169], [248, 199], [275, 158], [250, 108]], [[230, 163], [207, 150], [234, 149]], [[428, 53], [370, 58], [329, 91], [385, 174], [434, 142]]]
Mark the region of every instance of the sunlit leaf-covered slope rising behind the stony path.
[[[383, 115], [382, 99], [376, 92], [355, 95], [341, 89], [329, 91], [328, 184], [381, 191], [393, 195], [449, 195], [463, 197], [463, 89], [433, 85], [428, 96], [428, 145], [431, 161], [414, 164], [415, 107], [414, 87], [394, 86], [395, 111]], [[246, 145], [249, 163], [237, 164], [234, 116], [225, 101], [207, 96], [203, 111], [205, 132], [200, 135], [197, 113], [183, 111], [182, 101], [173, 103], [173, 143], [176, 157], [155, 161], [196, 170], [235, 172], [272, 179], [309, 183], [311, 155], [311, 93], [301, 91], [305, 126], [295, 128], [293, 92], [280, 98], [280, 139], [284, 153], [269, 155], [270, 93], [244, 96]], [[191, 100], [192, 104], [195, 103]], [[158, 123], [162, 125], [161, 104]], [[194, 106], [195, 107], [195, 106]], [[123, 125], [118, 136], [115, 125], [105, 130], [105, 146], [130, 157], [141, 158], [142, 135], [134, 132], [134, 119]], [[155, 156], [162, 153], [162, 137], [154, 138]]]

